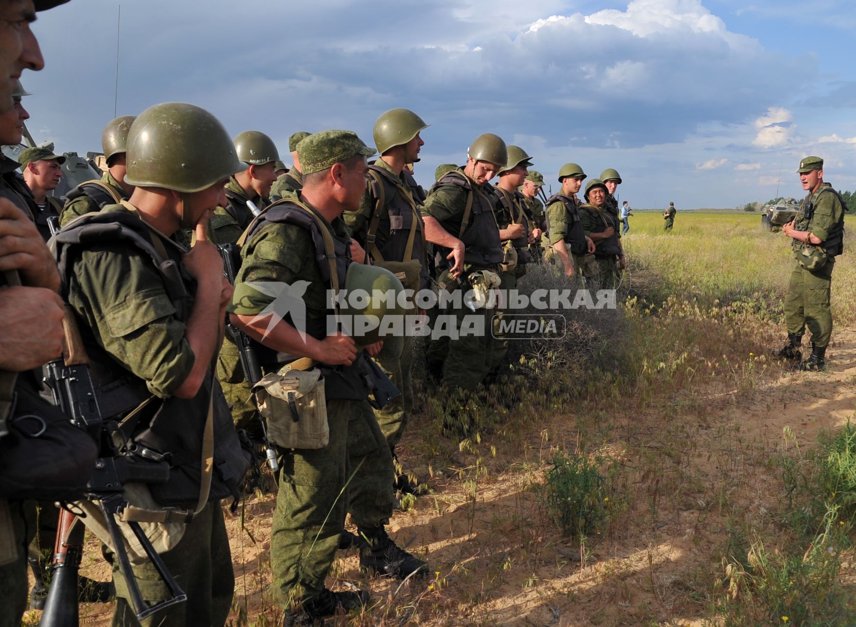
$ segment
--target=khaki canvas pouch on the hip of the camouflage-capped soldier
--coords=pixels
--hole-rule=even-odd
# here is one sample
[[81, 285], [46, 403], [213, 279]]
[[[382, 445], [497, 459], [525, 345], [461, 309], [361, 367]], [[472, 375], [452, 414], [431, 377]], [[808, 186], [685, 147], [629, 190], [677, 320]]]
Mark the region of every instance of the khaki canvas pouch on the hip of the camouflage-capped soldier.
[[286, 365], [262, 377], [253, 393], [276, 446], [318, 449], [330, 443], [324, 378], [318, 368], [291, 370]]

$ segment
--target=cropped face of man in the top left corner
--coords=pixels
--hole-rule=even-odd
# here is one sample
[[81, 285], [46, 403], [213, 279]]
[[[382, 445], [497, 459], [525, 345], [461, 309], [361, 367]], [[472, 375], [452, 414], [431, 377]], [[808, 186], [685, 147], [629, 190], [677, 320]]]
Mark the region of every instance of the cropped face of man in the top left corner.
[[25, 68], [45, 67], [39, 42], [30, 24], [36, 20], [33, 0], [3, 0], [0, 3], [0, 111], [13, 106], [15, 80]]

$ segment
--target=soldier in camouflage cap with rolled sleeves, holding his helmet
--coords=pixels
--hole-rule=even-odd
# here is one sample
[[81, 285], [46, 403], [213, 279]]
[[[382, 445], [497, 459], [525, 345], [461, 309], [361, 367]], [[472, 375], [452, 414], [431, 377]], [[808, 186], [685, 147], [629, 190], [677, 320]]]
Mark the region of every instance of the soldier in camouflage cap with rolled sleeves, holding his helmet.
[[[274, 594], [288, 606], [285, 624], [312, 623], [366, 604], [365, 592], [331, 592], [324, 586], [339, 547], [348, 498], [360, 500], [351, 504], [351, 518], [366, 539], [360, 549], [361, 566], [401, 578], [425, 571], [425, 562], [396, 547], [383, 529], [393, 505], [392, 455], [377, 421], [354, 411], [354, 404], [365, 400], [368, 392], [360, 374], [366, 365], [364, 353], [354, 338], [327, 331], [327, 318], [336, 311], [327, 292], [331, 287], [334, 291], [351, 287], [348, 267], [360, 259], [352, 262], [348, 251], [361, 253], [349, 240], [341, 216], [360, 205], [366, 191], [366, 157], [374, 151], [350, 131], [315, 133], [300, 142], [298, 151], [303, 169], [300, 194], [271, 206], [247, 230], [230, 307], [232, 321], [270, 349], [268, 358], [260, 357], [263, 370], [281, 368], [276, 352], [289, 369], [317, 366], [324, 376], [328, 443], [314, 449], [280, 449], [282, 471], [270, 553]], [[263, 283], [306, 286], [301, 298], [305, 329], [293, 326], [300, 318], [291, 312], [271, 316], [276, 299], [269, 290], [257, 289]], [[373, 344], [366, 352], [377, 354], [379, 348]], [[354, 494], [349, 487], [348, 498], [343, 499], [352, 472], [360, 489], [369, 487], [361, 475], [366, 471], [374, 476], [385, 473], [383, 482], [372, 494]]]

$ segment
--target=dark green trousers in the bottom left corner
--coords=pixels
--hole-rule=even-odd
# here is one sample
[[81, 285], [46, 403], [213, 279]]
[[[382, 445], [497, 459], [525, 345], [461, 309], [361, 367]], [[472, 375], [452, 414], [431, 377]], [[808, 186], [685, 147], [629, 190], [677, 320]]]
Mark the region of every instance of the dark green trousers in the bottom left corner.
[[33, 501], [0, 502], [0, 627], [19, 627], [27, 609], [27, 546], [35, 533]]

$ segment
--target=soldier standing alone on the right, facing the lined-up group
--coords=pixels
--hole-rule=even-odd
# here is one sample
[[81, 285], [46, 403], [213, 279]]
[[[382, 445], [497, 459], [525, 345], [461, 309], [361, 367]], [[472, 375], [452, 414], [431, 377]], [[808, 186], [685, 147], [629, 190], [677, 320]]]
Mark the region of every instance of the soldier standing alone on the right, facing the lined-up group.
[[829, 288], [835, 257], [844, 251], [847, 207], [833, 186], [823, 181], [822, 158], [805, 157], [797, 173], [808, 195], [800, 213], [782, 227], [782, 233], [794, 240], [795, 262], [784, 302], [788, 344], [777, 355], [799, 361], [802, 336], [808, 327], [811, 357], [800, 364], [800, 370], [825, 370], [826, 347], [832, 334]]

